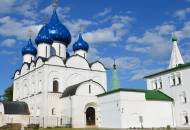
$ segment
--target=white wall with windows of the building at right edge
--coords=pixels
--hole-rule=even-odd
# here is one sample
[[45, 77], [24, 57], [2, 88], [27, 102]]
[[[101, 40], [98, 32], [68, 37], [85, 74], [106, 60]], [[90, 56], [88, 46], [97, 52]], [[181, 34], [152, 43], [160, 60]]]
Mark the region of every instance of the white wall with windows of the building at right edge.
[[[171, 85], [170, 77], [175, 76], [177, 80], [177, 75], [181, 76], [181, 84], [180, 85]], [[175, 107], [174, 107], [174, 116], [175, 116], [175, 122], [177, 127], [190, 127], [189, 124], [184, 124], [182, 120], [182, 113], [185, 111], [188, 114], [188, 119], [190, 120], [190, 80], [189, 80], [189, 75], [190, 75], [190, 69], [186, 68], [183, 70], [179, 71], [174, 71], [170, 73], [166, 73], [163, 75], [158, 75], [155, 77], [151, 77], [147, 79], [147, 88], [148, 89], [153, 89], [153, 84], [152, 82], [156, 79], [161, 79], [163, 87], [160, 89], [162, 92], [165, 94], [169, 95], [174, 99], [175, 102]], [[187, 103], [183, 103], [181, 101], [181, 95], [185, 92]]]

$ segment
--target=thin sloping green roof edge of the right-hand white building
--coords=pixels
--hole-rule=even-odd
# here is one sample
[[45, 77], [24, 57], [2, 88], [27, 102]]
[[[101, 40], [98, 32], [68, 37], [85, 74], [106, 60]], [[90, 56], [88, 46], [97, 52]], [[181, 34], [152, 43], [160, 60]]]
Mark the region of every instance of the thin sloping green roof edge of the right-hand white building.
[[154, 76], [170, 73], [170, 72], [173, 72], [173, 71], [176, 71], [176, 70], [186, 69], [186, 68], [189, 68], [189, 67], [190, 67], [190, 62], [186, 63], [186, 64], [179, 64], [175, 68], [171, 68], [171, 69], [163, 70], [163, 71], [160, 71], [160, 72], [157, 72], [157, 73], [154, 73], [154, 74], [150, 74], [148, 76], [145, 76], [144, 78], [151, 78], [151, 77], [154, 77]]

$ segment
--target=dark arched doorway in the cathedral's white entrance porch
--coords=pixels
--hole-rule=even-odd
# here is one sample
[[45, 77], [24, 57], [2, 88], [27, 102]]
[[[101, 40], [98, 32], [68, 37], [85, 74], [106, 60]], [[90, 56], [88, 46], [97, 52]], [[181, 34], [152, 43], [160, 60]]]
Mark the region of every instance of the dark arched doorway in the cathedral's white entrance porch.
[[95, 109], [93, 107], [86, 109], [86, 125], [95, 125]]

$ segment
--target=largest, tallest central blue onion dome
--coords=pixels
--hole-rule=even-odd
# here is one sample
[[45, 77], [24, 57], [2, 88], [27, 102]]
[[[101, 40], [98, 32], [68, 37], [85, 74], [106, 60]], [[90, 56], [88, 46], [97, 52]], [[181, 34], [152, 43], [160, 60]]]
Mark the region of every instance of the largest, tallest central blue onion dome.
[[60, 22], [56, 9], [53, 10], [48, 26], [50, 36], [54, 41], [62, 42], [66, 46], [69, 45], [71, 42], [71, 34], [69, 30]]

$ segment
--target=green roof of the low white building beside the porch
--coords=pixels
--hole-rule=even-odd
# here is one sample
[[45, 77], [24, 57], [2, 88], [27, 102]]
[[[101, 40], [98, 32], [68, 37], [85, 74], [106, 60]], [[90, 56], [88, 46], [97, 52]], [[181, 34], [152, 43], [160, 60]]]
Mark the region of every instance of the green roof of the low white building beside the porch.
[[143, 89], [130, 89], [130, 88], [120, 88], [120, 89], [99, 94], [97, 96], [102, 97], [102, 96], [106, 96], [106, 95], [117, 93], [117, 92], [141, 92], [141, 93], [145, 93], [146, 100], [173, 101], [171, 97], [169, 97], [168, 95], [164, 94], [163, 92], [159, 90], [143, 90]]

